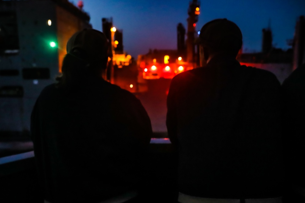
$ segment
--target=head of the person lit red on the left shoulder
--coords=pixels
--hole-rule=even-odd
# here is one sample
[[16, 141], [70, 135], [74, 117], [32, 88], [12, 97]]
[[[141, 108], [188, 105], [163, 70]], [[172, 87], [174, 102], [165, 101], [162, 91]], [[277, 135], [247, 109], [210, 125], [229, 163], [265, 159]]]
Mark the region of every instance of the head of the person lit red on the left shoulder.
[[198, 43], [201, 62], [220, 53], [236, 58], [242, 47], [242, 32], [232, 21], [225, 18], [215, 19], [201, 28]]

